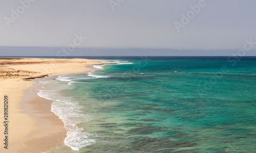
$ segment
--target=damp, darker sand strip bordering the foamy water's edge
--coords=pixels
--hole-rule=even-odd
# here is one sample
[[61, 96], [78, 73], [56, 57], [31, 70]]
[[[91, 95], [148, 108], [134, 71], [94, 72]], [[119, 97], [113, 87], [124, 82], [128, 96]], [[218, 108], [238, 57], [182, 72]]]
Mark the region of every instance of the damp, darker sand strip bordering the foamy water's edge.
[[[39, 79], [40, 80], [40, 79]], [[43, 79], [42, 79], [43, 80]], [[51, 148], [64, 145], [63, 141], [67, 136], [67, 130], [57, 115], [51, 112], [51, 100], [41, 98], [37, 95], [37, 82], [24, 91], [23, 101], [20, 102], [21, 113], [28, 114], [35, 118], [37, 123], [34, 129], [20, 143], [16, 144], [17, 152], [45, 152]], [[44, 145], [41, 145], [44, 144]]]

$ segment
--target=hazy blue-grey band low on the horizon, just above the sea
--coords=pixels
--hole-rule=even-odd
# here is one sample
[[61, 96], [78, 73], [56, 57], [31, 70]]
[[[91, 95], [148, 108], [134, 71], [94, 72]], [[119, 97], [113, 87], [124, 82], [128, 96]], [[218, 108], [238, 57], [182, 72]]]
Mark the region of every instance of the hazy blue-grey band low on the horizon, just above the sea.
[[[136, 48], [61, 48], [61, 47], [0, 47], [0, 56], [239, 56], [239, 49], [230, 50], [179, 50]], [[256, 50], [244, 56], [256, 56]]]

